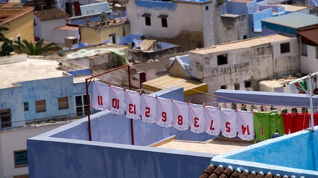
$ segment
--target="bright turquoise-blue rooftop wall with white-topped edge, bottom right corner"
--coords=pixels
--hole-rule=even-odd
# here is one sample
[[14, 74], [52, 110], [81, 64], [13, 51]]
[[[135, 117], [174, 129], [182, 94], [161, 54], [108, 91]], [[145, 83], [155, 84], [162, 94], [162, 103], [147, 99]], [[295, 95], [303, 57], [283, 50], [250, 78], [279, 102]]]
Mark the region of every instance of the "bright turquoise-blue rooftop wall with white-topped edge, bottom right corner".
[[[314, 165], [318, 159], [314, 157], [314, 139], [318, 142], [317, 131], [300, 131], [277, 138], [262, 141], [260, 143], [214, 157], [211, 163], [215, 165], [239, 167], [257, 171], [271, 172], [273, 175], [287, 175], [291, 177], [304, 176], [305, 178], [317, 178], [318, 172], [314, 171]], [[315, 161], [315, 163], [314, 163]]]

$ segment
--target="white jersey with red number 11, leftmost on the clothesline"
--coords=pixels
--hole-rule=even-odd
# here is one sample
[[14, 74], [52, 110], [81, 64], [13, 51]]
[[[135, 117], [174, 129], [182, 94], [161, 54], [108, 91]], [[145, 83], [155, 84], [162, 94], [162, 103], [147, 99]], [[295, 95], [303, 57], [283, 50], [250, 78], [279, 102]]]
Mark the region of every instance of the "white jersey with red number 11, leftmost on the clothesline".
[[92, 107], [103, 111], [109, 108], [108, 102], [108, 85], [94, 81]]

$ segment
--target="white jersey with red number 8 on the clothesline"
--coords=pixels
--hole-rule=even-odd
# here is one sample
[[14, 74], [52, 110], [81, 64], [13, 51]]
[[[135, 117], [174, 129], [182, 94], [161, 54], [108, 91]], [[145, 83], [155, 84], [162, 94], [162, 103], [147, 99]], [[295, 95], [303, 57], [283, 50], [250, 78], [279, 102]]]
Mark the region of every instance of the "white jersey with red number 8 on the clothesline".
[[187, 130], [190, 127], [189, 123], [189, 105], [185, 102], [172, 102], [172, 126], [180, 131]]

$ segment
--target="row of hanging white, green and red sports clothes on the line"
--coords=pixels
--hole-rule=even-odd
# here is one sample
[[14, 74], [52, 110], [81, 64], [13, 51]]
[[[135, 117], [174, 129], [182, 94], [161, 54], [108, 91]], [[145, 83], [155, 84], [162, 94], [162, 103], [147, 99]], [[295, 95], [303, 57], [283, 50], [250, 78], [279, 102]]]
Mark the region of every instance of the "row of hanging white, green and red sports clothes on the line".
[[[253, 113], [248, 111], [216, 108], [192, 103], [165, 99], [138, 93], [129, 89], [109, 86], [100, 82], [93, 82], [92, 107], [97, 110], [109, 109], [113, 114], [125, 114], [129, 119], [141, 119], [147, 123], [157, 123], [161, 127], [174, 127], [183, 131], [190, 129], [193, 133], [217, 135], [222, 133], [226, 137], [239, 136], [244, 140], [265, 140], [271, 138], [276, 130], [285, 134], [283, 117], [277, 113]], [[294, 115], [293, 115], [294, 116]], [[297, 117], [296, 117], [297, 116]], [[290, 133], [299, 130], [301, 126], [308, 126], [308, 115], [295, 115], [297, 129], [290, 127]], [[318, 118], [318, 115], [317, 115]], [[285, 120], [284, 120], [285, 122]], [[283, 128], [283, 129], [282, 129]], [[302, 127], [302, 129], [306, 129]], [[288, 134], [288, 133], [287, 133]]]

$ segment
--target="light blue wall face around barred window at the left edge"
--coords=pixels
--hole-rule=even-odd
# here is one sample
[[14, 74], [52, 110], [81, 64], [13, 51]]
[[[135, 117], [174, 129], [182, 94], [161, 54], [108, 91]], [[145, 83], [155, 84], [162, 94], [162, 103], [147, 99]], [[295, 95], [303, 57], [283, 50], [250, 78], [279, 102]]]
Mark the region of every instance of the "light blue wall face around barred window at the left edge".
[[[25, 125], [21, 86], [0, 89], [0, 110], [4, 109], [10, 109], [12, 127]], [[0, 129], [3, 129], [1, 125]]]

